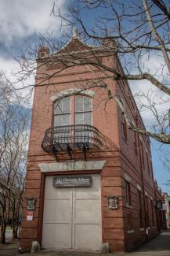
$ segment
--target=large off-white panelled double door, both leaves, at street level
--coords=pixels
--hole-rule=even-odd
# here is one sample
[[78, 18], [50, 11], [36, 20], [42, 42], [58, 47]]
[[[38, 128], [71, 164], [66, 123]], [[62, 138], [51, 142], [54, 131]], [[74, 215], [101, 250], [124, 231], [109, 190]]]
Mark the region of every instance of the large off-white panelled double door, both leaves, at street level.
[[100, 176], [92, 187], [53, 187], [45, 180], [42, 247], [99, 250], [102, 243]]

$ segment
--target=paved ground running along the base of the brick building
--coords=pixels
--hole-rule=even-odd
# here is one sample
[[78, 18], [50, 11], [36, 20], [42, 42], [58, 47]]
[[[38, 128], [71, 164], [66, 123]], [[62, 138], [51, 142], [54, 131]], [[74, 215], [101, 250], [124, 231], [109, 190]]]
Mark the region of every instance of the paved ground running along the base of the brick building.
[[[17, 253], [18, 242], [0, 247], [0, 256], [20, 256]], [[42, 252], [39, 254], [26, 253], [24, 256], [170, 256], [170, 230], [162, 232], [161, 235], [148, 243], [143, 244], [138, 250], [130, 253], [114, 253], [114, 254], [99, 254], [99, 253], [80, 253], [80, 252]]]

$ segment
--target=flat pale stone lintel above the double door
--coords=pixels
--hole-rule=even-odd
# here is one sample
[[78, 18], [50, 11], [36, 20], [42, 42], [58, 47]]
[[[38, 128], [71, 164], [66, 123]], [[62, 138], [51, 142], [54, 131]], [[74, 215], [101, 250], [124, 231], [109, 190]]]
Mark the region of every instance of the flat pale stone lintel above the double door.
[[85, 171], [102, 170], [106, 160], [101, 161], [63, 161], [54, 163], [38, 164], [42, 173], [61, 172], [61, 171]]

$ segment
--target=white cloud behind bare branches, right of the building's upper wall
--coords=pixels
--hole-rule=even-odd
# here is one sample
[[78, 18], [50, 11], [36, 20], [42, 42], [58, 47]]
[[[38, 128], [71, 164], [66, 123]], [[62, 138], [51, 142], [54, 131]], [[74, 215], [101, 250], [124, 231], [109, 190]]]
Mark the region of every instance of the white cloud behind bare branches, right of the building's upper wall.
[[[170, 77], [168, 76], [168, 69], [165, 66], [165, 61], [161, 55], [147, 55], [143, 56], [140, 61], [141, 68], [143, 72], [150, 72], [154, 75], [158, 80], [163, 83], [170, 83]], [[136, 80], [129, 82], [130, 87], [132, 89], [133, 95], [150, 95], [152, 99], [151, 102], [155, 102], [155, 109], [161, 118], [167, 113], [170, 104], [170, 97], [166, 95], [163, 91], [159, 90], [148, 80]], [[148, 101], [145, 97], [136, 98], [136, 102], [140, 104], [148, 105]], [[150, 127], [153, 124], [157, 124], [157, 121], [154, 117], [154, 114], [150, 111], [149, 108], [143, 107], [143, 111], [141, 111], [141, 116], [143, 117], [143, 121], [147, 127]]]

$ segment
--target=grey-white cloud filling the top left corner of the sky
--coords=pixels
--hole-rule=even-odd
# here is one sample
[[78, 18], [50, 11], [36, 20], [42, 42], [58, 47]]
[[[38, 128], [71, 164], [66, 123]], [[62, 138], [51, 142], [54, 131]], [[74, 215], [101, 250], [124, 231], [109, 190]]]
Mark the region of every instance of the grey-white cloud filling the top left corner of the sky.
[[[57, 0], [63, 9], [66, 0]], [[53, 0], [1, 0], [0, 40], [9, 45], [15, 38], [60, 31], [60, 19], [50, 16]]]

